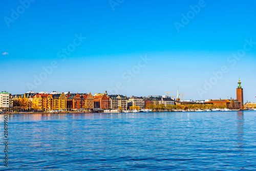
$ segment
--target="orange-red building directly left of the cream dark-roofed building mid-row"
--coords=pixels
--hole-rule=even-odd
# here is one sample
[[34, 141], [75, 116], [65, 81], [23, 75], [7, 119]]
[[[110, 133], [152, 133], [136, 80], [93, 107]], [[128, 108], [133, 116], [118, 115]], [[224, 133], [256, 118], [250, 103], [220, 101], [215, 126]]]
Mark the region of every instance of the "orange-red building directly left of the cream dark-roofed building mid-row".
[[[96, 95], [96, 96], [95, 96]], [[97, 93], [94, 95], [94, 108], [109, 109], [108, 93]]]

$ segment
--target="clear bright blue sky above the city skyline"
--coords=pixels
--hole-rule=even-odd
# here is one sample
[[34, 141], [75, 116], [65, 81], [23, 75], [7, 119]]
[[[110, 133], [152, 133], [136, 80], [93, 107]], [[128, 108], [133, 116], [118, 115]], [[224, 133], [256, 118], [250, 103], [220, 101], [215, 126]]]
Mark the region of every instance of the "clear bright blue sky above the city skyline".
[[190, 94], [184, 100], [224, 99], [236, 98], [240, 77], [245, 101], [256, 101], [255, 7], [252, 0], [1, 1], [0, 91], [147, 96], [179, 86]]

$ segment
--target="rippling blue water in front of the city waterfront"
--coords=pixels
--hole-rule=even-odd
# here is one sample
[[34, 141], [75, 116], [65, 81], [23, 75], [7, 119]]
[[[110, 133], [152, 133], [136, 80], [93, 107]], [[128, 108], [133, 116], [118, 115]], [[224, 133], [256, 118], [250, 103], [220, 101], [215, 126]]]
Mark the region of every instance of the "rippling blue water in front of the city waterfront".
[[256, 112], [24, 114], [9, 122], [8, 170], [256, 169]]

